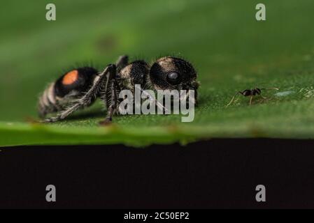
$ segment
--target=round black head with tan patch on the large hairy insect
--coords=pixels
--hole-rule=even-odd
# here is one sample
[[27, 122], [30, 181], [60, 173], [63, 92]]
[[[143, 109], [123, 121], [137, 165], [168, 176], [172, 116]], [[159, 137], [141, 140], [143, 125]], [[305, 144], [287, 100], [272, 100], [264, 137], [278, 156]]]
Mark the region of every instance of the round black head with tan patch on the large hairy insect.
[[150, 80], [157, 90], [197, 91], [196, 79], [197, 72], [192, 64], [176, 57], [162, 57], [150, 68]]

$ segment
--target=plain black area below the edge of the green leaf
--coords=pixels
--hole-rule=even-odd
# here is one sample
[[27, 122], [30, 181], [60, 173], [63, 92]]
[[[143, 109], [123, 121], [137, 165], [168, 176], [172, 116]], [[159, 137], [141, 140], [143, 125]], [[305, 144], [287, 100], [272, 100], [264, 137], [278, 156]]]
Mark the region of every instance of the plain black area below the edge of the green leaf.
[[[313, 148], [279, 139], [3, 148], [0, 208], [314, 208]], [[55, 203], [45, 201], [50, 184]]]

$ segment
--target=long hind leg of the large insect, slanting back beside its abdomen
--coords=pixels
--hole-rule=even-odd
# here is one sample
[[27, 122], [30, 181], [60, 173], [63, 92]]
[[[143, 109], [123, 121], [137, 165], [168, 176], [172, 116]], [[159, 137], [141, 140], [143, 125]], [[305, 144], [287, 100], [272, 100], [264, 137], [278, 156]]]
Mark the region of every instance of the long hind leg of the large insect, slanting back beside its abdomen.
[[114, 65], [109, 65], [105, 68], [103, 72], [101, 72], [94, 80], [94, 84], [89, 91], [82, 98], [78, 99], [72, 106], [64, 109], [62, 112], [59, 112], [57, 116], [48, 118], [44, 122], [53, 123], [56, 121], [63, 120], [73, 112], [76, 112], [78, 109], [82, 107], [86, 107], [91, 104], [92, 99], [97, 97], [101, 86], [103, 86], [104, 80], [106, 79], [106, 74], [112, 72]]

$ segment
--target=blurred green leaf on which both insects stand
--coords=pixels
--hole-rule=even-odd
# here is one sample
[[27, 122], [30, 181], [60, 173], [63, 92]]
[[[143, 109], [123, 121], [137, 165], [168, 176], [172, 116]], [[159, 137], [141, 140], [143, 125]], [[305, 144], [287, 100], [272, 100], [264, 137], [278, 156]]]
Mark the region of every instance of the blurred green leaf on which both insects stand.
[[[314, 1], [263, 0], [266, 21], [257, 22], [260, 2], [1, 3], [0, 145], [313, 138]], [[57, 7], [55, 22], [45, 20], [47, 3]], [[201, 82], [194, 122], [181, 123], [174, 115], [119, 116], [114, 130], [104, 130], [97, 127], [106, 114], [98, 103], [69, 121], [27, 123], [36, 118], [38, 95], [65, 70], [90, 63], [101, 69], [121, 54], [150, 62], [169, 54], [191, 61]], [[256, 86], [276, 86], [290, 95], [266, 91], [269, 100], [255, 98], [248, 107], [248, 98], [240, 98], [225, 107], [236, 91]]]

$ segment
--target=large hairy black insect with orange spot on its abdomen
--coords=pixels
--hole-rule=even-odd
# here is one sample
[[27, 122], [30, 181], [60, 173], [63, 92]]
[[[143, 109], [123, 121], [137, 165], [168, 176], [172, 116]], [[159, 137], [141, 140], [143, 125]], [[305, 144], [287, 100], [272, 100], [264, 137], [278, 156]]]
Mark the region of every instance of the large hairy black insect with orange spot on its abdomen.
[[110, 123], [113, 114], [119, 114], [120, 91], [128, 89], [134, 92], [136, 84], [141, 84], [141, 91], [194, 90], [197, 103], [197, 72], [188, 61], [165, 56], [150, 65], [142, 60], [129, 63], [128, 56], [124, 55], [102, 72], [92, 67], [66, 72], [43, 92], [39, 98], [38, 114], [46, 118], [48, 114], [57, 112], [57, 116], [46, 118], [45, 122], [60, 121], [100, 98], [107, 108], [107, 116], [102, 123]]

